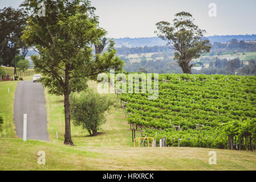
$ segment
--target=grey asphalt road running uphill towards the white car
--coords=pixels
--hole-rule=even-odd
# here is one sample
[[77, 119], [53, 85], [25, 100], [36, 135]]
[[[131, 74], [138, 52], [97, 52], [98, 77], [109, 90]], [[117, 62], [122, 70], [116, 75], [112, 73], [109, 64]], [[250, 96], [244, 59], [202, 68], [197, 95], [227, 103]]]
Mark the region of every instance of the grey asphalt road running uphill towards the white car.
[[40, 82], [18, 82], [14, 101], [14, 121], [19, 138], [23, 138], [23, 114], [27, 114], [27, 139], [48, 141], [46, 100]]

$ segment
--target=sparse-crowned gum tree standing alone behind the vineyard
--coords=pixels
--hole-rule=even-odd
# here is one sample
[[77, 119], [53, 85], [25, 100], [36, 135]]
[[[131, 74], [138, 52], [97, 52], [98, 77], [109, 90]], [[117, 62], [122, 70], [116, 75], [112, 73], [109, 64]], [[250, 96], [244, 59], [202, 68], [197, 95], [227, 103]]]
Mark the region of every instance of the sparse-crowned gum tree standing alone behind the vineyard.
[[210, 52], [209, 40], [203, 39], [205, 30], [201, 30], [193, 23], [192, 15], [186, 12], [177, 13], [173, 24], [169, 22], [156, 23], [155, 33], [165, 40], [170, 49], [174, 49], [174, 59], [184, 73], [191, 73], [192, 59]]

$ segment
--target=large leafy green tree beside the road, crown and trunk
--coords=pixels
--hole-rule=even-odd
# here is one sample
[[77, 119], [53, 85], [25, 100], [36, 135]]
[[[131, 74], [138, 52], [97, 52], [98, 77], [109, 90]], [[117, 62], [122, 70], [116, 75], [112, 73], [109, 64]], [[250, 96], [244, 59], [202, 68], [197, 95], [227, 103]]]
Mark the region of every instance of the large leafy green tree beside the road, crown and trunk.
[[[45, 16], [37, 15], [38, 3], [46, 6]], [[100, 44], [106, 31], [99, 27], [90, 1], [26, 0], [23, 6], [32, 14], [22, 39], [39, 51], [39, 56], [32, 56], [32, 59], [36, 70], [44, 75], [43, 85], [50, 93], [64, 94], [64, 144], [74, 145], [70, 93], [79, 89], [82, 78], [91, 78], [110, 68], [121, 70], [123, 61], [116, 57], [113, 41], [104, 53], [93, 54], [92, 46]]]

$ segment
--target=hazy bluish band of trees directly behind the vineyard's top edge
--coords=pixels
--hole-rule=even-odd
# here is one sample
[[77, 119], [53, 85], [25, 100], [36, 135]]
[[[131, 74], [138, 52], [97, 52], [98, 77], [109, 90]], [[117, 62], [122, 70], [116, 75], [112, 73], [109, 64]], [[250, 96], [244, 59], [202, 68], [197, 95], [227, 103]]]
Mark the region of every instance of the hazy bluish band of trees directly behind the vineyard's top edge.
[[[153, 55], [152, 55], [153, 56]], [[176, 61], [173, 59], [156, 59], [147, 61], [145, 57], [140, 62], [133, 62], [125, 57], [124, 71], [126, 72], [145, 72], [145, 73], [182, 73]], [[192, 69], [193, 74], [206, 74], [206, 75], [255, 75], [256, 76], [256, 60], [249, 60], [248, 64], [239, 58], [227, 60], [215, 57], [214, 60], [209, 60], [209, 67], [204, 68], [201, 61], [196, 61], [194, 65], [201, 66], [202, 69], [197, 71]]]

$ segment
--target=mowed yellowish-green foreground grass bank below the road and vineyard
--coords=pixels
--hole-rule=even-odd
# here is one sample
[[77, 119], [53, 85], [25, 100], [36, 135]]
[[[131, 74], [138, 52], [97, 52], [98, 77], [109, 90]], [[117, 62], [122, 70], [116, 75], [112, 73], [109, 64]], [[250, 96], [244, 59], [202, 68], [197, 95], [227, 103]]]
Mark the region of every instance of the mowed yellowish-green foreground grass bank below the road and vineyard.
[[[39, 165], [39, 151], [46, 164]], [[255, 152], [208, 148], [86, 147], [22, 139], [0, 139], [0, 170], [256, 170]]]

